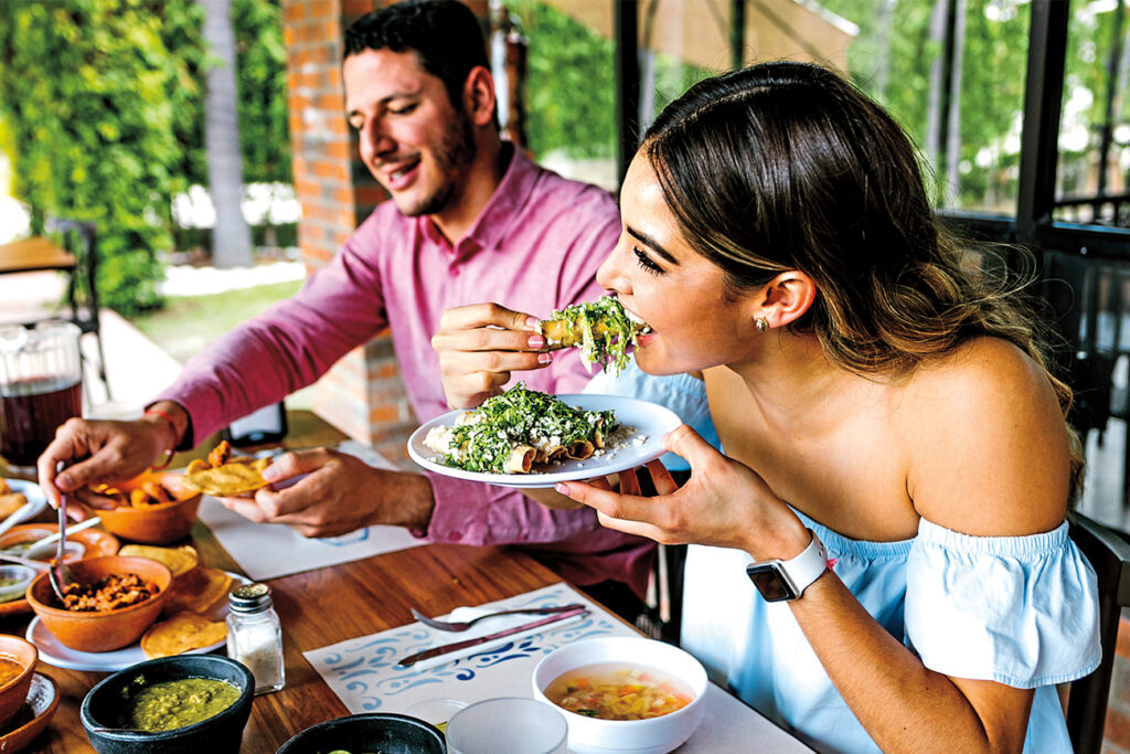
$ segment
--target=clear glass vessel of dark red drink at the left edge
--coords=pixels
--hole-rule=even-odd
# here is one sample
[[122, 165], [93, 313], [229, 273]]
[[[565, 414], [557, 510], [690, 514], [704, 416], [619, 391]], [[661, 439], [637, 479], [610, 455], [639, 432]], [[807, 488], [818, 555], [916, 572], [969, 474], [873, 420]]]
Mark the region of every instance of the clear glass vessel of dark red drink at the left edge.
[[55, 430], [82, 413], [80, 330], [49, 320], [0, 329], [0, 456], [33, 468]]

